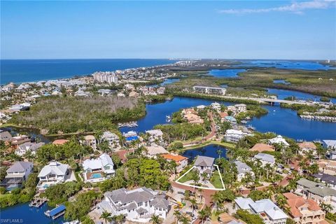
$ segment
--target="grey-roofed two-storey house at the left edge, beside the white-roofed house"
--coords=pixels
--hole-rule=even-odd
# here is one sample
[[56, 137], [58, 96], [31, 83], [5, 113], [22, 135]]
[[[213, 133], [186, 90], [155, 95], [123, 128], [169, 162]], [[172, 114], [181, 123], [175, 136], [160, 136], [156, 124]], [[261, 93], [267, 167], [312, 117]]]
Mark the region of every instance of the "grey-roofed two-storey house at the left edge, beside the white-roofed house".
[[15, 162], [6, 170], [6, 177], [0, 186], [9, 191], [14, 188], [20, 188], [23, 181], [27, 181], [31, 172], [33, 172], [33, 163], [24, 161]]

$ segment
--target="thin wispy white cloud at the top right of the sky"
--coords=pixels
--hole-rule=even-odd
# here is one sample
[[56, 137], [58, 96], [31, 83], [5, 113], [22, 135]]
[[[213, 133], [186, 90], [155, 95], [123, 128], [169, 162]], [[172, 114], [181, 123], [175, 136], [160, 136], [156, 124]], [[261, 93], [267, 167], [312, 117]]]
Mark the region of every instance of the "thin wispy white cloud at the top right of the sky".
[[219, 10], [219, 13], [225, 14], [248, 14], [248, 13], [270, 13], [270, 12], [290, 12], [303, 14], [304, 10], [309, 9], [325, 9], [336, 6], [336, 0], [314, 0], [294, 2], [287, 6], [279, 6], [274, 8], [243, 8], [243, 9], [225, 9]]

